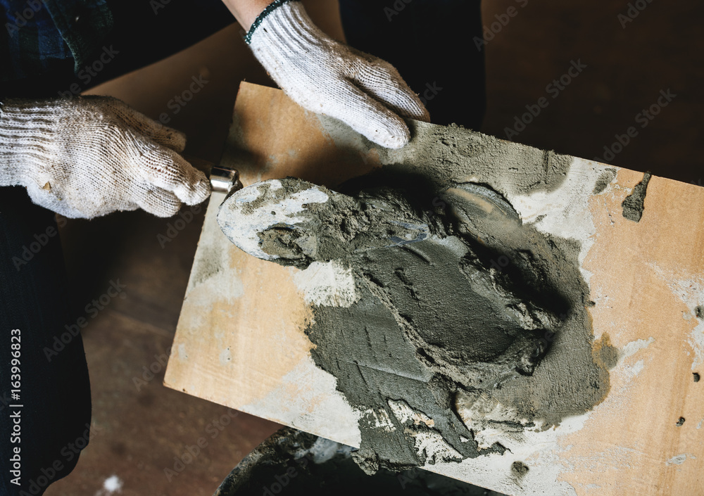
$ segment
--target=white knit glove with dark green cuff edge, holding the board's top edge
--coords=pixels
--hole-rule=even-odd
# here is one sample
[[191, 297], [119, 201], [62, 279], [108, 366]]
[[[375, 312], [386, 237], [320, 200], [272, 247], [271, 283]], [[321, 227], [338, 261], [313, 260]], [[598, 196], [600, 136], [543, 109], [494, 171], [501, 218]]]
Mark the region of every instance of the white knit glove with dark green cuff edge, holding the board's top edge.
[[377, 144], [401, 148], [408, 143], [401, 117], [430, 120], [394, 66], [328, 37], [298, 1], [270, 4], [245, 41], [298, 105], [346, 122]]

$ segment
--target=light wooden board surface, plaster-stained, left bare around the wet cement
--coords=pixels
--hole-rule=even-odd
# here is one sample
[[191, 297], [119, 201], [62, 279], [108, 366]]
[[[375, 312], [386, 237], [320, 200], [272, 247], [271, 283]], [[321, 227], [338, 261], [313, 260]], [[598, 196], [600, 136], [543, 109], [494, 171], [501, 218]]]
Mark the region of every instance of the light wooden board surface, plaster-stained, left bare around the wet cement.
[[[414, 141], [433, 125], [415, 123]], [[294, 176], [334, 186], [407, 151], [382, 153], [281, 91], [243, 83], [223, 161], [244, 184]], [[636, 165], [637, 166], [637, 165]], [[616, 169], [594, 193], [603, 171]], [[558, 191], [510, 193], [524, 222], [582, 239], [581, 269], [597, 305], [597, 339], [620, 349], [611, 391], [591, 412], [529, 436], [520, 450], [426, 468], [512, 495], [704, 495], [704, 189], [653, 177], [643, 218], [621, 203], [643, 173], [572, 159]], [[482, 177], [475, 177], [482, 182]], [[507, 186], [508, 185], [508, 186]], [[210, 199], [165, 385], [358, 446], [358, 412], [315, 367], [303, 329], [312, 317], [297, 269], [233, 246]], [[680, 417], [684, 424], [677, 425]], [[519, 482], [510, 466], [531, 467]]]

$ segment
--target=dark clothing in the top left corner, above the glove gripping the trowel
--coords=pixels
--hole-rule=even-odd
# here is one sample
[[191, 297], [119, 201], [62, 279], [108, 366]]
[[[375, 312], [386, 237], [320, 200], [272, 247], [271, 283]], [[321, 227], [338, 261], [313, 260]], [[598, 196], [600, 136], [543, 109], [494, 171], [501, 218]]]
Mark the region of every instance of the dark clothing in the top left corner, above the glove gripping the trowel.
[[[39, 0], [0, 0], [1, 12], [6, 19], [15, 19], [15, 12], [21, 14], [19, 9], [29, 8], [34, 1]], [[8, 4], [13, 8], [7, 8]], [[39, 34], [34, 34], [38, 26], [28, 24], [28, 30], [27, 26], [18, 30], [23, 53], [10, 51], [7, 27], [0, 29], [0, 101], [77, 95], [160, 61], [234, 23], [220, 0], [45, 0], [44, 4], [42, 39], [51, 37], [56, 42], [58, 31], [63, 53], [42, 65], [37, 63], [41, 59], [37, 55]], [[54, 34], [44, 24], [47, 12], [54, 21]], [[61, 46], [56, 49], [55, 43], [46, 53], [57, 53]], [[6, 70], [13, 68], [13, 60], [27, 64], [23, 72]]]

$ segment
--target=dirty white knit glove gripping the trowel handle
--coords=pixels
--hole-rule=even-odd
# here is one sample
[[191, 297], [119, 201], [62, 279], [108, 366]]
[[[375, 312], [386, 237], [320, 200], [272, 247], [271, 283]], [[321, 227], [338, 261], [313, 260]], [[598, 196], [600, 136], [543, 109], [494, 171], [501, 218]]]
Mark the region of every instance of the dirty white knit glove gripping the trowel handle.
[[174, 215], [210, 193], [184, 134], [104, 96], [0, 104], [0, 186], [65, 217], [143, 208]]

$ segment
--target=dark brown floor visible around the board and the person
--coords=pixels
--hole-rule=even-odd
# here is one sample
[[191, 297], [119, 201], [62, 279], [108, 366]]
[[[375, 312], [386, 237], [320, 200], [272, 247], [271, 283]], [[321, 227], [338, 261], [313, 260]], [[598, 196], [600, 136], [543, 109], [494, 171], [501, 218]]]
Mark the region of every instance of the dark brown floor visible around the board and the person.
[[[604, 146], [612, 148], [616, 134], [635, 126], [637, 136], [603, 161], [704, 184], [704, 39], [699, 35], [704, 6], [635, 3], [646, 8], [622, 27], [618, 15], [627, 14], [627, 1], [484, 2], [490, 30], [495, 16], [510, 6], [517, 15], [505, 26], [494, 24], [495, 35], [486, 45], [489, 108], [482, 130], [505, 138], [505, 128], [515, 125], [526, 106], [546, 96], [549, 105], [515, 141], [603, 158]], [[335, 1], [306, 4], [324, 30], [341, 38]], [[587, 67], [553, 98], [546, 85], [580, 59]], [[241, 42], [237, 25], [91, 92], [122, 98], [156, 118], [170, 112], [168, 101], [194, 75], [209, 82], [172, 115], [170, 125], [188, 134], [187, 153], [217, 161], [239, 81], [273, 85]], [[636, 116], [668, 89], [677, 96], [640, 127]], [[157, 236], [172, 220], [144, 212], [70, 221], [63, 229], [80, 307], [118, 279], [125, 284], [125, 298], [112, 300], [84, 330], [96, 434], [75, 471], [51, 485], [47, 495], [112, 494], [104, 487], [106, 480], [116, 481], [112, 476], [122, 495], [211, 495], [232, 467], [277, 429], [162, 385], [161, 355], [168, 354], [175, 331], [202, 218], [202, 211], [194, 215], [165, 246]], [[153, 378], [146, 371], [150, 367]], [[199, 438], [207, 445], [189, 458], [189, 447]], [[175, 458], [189, 462], [181, 466]]]

